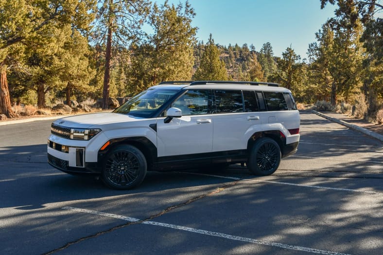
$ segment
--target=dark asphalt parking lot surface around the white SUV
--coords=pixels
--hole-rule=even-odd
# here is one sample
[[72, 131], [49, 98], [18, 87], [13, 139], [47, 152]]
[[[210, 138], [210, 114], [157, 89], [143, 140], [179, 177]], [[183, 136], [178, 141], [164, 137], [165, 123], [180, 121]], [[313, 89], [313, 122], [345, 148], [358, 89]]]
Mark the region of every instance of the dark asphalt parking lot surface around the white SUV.
[[0, 254], [382, 254], [382, 142], [310, 112], [271, 176], [149, 172], [127, 191], [50, 167], [49, 132], [0, 126]]

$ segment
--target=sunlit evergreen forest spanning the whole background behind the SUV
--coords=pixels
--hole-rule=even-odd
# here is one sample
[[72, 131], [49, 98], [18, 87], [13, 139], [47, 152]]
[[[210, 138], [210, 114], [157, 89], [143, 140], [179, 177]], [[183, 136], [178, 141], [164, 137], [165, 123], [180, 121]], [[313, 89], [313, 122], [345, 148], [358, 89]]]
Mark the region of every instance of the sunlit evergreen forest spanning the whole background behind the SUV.
[[[320, 0], [337, 6], [315, 34], [308, 59], [269, 42], [196, 42], [191, 4], [147, 0], [0, 0], [0, 114], [12, 104], [130, 97], [167, 80], [277, 82], [305, 103], [383, 108], [383, 19], [379, 0]], [[319, 8], [319, 1], [318, 1]], [[146, 24], [152, 32], [146, 34]], [[62, 100], [64, 101], [64, 100]], [[361, 100], [358, 100], [361, 101]]]

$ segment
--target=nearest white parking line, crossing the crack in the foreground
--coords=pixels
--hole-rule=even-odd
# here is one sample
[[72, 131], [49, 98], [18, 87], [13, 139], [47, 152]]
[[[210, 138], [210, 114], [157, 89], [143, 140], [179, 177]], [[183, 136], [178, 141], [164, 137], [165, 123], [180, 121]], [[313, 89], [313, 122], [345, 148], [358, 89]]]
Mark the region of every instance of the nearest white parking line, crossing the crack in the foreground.
[[[125, 217], [122, 215], [104, 213], [104, 212], [87, 210], [87, 209], [70, 207], [70, 206], [65, 206], [62, 209], [75, 211], [75, 212], [90, 213], [90, 214], [95, 214], [95, 215], [100, 215], [100, 216], [105, 216], [105, 217], [111, 217], [111, 218], [116, 218], [116, 219], [120, 219], [120, 220], [124, 220], [124, 221], [130, 221], [130, 222], [141, 221], [141, 220], [136, 219], [136, 218]], [[174, 225], [174, 224], [167, 224], [167, 223], [156, 222], [156, 221], [142, 221], [139, 223], [148, 224], [148, 225], [156, 225], [156, 226], [160, 226], [160, 227], [173, 228], [173, 229], [177, 229], [177, 230], [188, 231], [188, 232], [193, 232], [193, 233], [207, 235], [207, 236], [226, 238], [226, 239], [231, 239], [231, 240], [244, 241], [244, 242], [262, 244], [262, 245], [267, 245], [267, 246], [274, 246], [274, 247], [296, 250], [296, 251], [302, 251], [302, 252], [324, 254], [324, 255], [347, 255], [344, 253], [336, 253], [336, 252], [318, 250], [318, 249], [313, 249], [313, 248], [308, 248], [308, 247], [303, 247], [303, 246], [288, 245], [288, 244], [283, 244], [283, 243], [278, 243], [278, 242], [271, 242], [271, 241], [253, 239], [253, 238], [244, 238], [244, 237], [232, 236], [232, 235], [227, 235], [224, 233], [212, 232], [212, 231], [207, 231], [207, 230], [202, 230], [202, 229], [197, 229], [197, 228], [185, 227], [185, 226]]]

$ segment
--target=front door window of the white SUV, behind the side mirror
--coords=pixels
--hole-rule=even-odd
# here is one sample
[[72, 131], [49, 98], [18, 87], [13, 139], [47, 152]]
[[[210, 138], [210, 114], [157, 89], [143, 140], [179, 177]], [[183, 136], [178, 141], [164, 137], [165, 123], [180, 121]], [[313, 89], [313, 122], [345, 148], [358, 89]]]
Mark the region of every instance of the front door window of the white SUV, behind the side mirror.
[[182, 115], [197, 115], [209, 113], [209, 90], [189, 90], [176, 101], [172, 107], [182, 110]]

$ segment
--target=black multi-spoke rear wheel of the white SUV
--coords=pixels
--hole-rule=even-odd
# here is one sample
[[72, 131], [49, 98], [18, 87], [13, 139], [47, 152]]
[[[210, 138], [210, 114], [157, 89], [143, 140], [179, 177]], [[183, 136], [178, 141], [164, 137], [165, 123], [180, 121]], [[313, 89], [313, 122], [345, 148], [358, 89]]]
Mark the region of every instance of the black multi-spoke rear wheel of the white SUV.
[[253, 145], [247, 167], [256, 175], [270, 175], [278, 169], [280, 157], [278, 143], [271, 138], [262, 137]]

